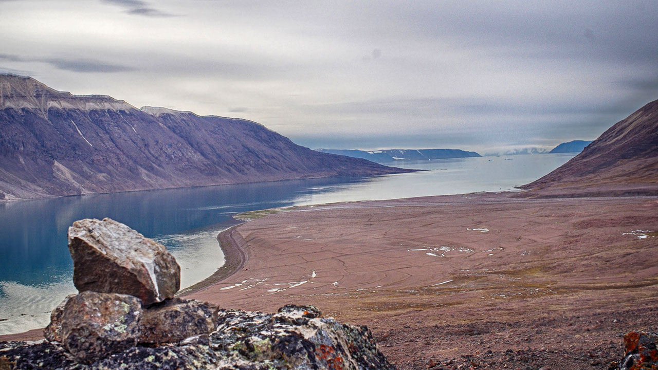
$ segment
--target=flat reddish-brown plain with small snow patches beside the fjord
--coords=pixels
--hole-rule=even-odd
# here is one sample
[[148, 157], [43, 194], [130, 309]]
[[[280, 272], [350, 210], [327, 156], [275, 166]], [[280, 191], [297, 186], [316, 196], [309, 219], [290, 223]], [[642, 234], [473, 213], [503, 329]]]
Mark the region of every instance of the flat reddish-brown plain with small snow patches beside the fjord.
[[620, 334], [658, 323], [655, 197], [484, 193], [263, 215], [221, 236], [227, 255], [243, 251], [239, 271], [186, 298], [315, 305], [367, 325], [403, 369], [607, 368]]

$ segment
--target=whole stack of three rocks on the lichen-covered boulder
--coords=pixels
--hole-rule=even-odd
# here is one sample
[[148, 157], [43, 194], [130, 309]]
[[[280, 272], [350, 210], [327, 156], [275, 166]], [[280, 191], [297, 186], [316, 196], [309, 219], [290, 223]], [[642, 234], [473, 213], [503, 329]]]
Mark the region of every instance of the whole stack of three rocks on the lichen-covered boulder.
[[43, 336], [80, 361], [216, 329], [218, 307], [174, 298], [180, 267], [162, 244], [112, 219], [84, 219], [68, 228], [68, 250], [80, 294], [53, 310]]

